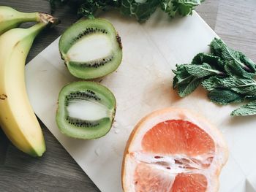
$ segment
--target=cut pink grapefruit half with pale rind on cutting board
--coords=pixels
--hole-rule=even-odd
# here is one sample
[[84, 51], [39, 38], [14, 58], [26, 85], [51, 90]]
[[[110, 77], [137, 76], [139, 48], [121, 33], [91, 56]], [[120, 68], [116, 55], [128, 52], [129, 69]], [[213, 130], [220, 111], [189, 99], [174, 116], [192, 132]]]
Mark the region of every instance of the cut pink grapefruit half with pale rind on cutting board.
[[218, 191], [227, 161], [219, 130], [188, 110], [168, 108], [146, 116], [124, 152], [125, 192]]

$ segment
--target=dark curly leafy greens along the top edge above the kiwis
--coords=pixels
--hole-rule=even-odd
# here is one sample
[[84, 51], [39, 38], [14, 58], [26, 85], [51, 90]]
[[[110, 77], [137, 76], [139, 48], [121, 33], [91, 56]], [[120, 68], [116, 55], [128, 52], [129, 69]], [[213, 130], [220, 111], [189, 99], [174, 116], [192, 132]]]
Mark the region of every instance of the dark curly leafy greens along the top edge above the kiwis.
[[52, 10], [56, 4], [69, 3], [77, 10], [78, 15], [93, 18], [98, 10], [110, 7], [118, 9], [121, 14], [134, 16], [139, 21], [145, 21], [158, 7], [171, 18], [175, 15], [192, 15], [192, 10], [204, 0], [48, 0]]

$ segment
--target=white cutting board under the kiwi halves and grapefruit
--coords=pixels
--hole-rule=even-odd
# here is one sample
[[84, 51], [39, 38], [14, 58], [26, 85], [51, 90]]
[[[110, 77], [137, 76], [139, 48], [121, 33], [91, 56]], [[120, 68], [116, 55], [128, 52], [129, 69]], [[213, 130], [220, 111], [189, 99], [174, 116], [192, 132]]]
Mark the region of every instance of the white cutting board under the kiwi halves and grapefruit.
[[34, 112], [101, 191], [121, 191], [121, 161], [132, 128], [154, 110], [185, 107], [205, 116], [225, 135], [230, 158], [220, 177], [220, 191], [256, 191], [256, 120], [231, 118], [234, 106], [208, 101], [203, 88], [180, 99], [172, 89], [176, 64], [188, 63], [217, 34], [197, 15], [170, 20], [157, 12], [146, 23], [103, 15], [116, 27], [124, 57], [116, 72], [102, 78], [117, 99], [116, 122], [100, 139], [72, 139], [60, 133], [55, 115], [59, 91], [75, 80], [61, 61], [56, 39], [26, 65], [26, 85]]

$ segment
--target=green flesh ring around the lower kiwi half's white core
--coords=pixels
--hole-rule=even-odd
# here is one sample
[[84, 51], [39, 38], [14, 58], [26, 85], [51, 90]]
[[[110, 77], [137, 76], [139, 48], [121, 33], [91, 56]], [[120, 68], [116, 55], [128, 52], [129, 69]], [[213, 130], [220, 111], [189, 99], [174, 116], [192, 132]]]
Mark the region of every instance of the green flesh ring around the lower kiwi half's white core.
[[[102, 120], [98, 120], [98, 124], [96, 126], [90, 126], [90, 125], [87, 125], [87, 124], [85, 124], [85, 126], [75, 126], [75, 123], [70, 123], [70, 120], [66, 119], [67, 116], [65, 114], [63, 114], [63, 110], [64, 110], [63, 105], [65, 104], [64, 101], [66, 101], [64, 98], [66, 98], [67, 95], [61, 96], [62, 91], [65, 88], [67, 88], [68, 86], [72, 86], [74, 84], [79, 84], [79, 83], [86, 83], [86, 84], [90, 84], [91, 86], [98, 86], [98, 88], [103, 88], [104, 91], [108, 92], [108, 93], [106, 93], [106, 97], [108, 97], [108, 96], [111, 97], [110, 98], [111, 106], [108, 105], [108, 107], [111, 107], [111, 109], [110, 109], [111, 110], [111, 116], [106, 117], [106, 118], [108, 118], [107, 121], [104, 118]], [[102, 91], [102, 92], [104, 92], [104, 91]], [[102, 95], [102, 93], [99, 93], [99, 95]], [[105, 99], [103, 99], [103, 100], [105, 100]], [[112, 106], [112, 104], [113, 104], [113, 106]], [[116, 115], [116, 98], [113, 96], [113, 93], [111, 93], [108, 88], [99, 84], [98, 82], [88, 82], [88, 81], [71, 82], [68, 85], [66, 85], [64, 88], [62, 88], [61, 92], [59, 93], [59, 104], [58, 104], [58, 109], [57, 109], [57, 112], [56, 112], [56, 123], [57, 123], [57, 126], [59, 127], [59, 130], [61, 131], [61, 133], [68, 136], [68, 137], [73, 137], [75, 139], [98, 139], [100, 137], [104, 137], [106, 134], [108, 134], [108, 132], [111, 129], [111, 127], [113, 125], [115, 115]], [[66, 123], [64, 123], [64, 121]], [[68, 123], [68, 121], [69, 121], [69, 123]], [[89, 121], [89, 123], [90, 122], [91, 121]], [[97, 122], [97, 121], [95, 121], [95, 122]], [[104, 125], [105, 122], [107, 123], [106, 126]], [[86, 123], [88, 123], [88, 122], [86, 122]], [[83, 130], [87, 131], [89, 134], [87, 134], [87, 135], [86, 134], [83, 134], [83, 135], [82, 134], [76, 134], [76, 133], [74, 134], [75, 131], [71, 131], [72, 134], [70, 134], [70, 130], [72, 130], [72, 128], [79, 129], [80, 132], [83, 132]], [[93, 130], [93, 128], [95, 128], [95, 130]], [[90, 129], [90, 130], [88, 130], [88, 129]], [[97, 133], [98, 130], [100, 131], [100, 133]], [[95, 131], [95, 132], [90, 133], [90, 131]], [[93, 135], [93, 136], [91, 136], [91, 135]]]

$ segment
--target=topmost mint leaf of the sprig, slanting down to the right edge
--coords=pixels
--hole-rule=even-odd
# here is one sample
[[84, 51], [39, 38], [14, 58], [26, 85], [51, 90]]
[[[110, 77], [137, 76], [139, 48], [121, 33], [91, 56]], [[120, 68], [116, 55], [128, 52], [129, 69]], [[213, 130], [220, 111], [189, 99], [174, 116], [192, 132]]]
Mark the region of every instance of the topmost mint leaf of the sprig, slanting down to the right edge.
[[[222, 39], [214, 38], [210, 44], [211, 53], [225, 60], [225, 69], [227, 73], [233, 73], [241, 77], [254, 77], [256, 64], [250, 61], [246, 56], [232, 48], [228, 47]], [[234, 72], [233, 70], [236, 69]]]

